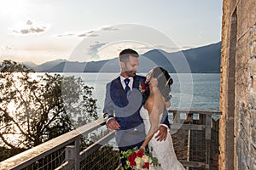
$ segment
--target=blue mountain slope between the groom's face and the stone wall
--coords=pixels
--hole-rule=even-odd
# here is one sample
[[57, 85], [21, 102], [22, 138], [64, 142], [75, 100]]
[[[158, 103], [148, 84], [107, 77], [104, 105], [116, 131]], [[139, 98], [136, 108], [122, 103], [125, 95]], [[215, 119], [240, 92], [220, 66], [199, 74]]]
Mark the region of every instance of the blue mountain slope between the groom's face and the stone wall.
[[[162, 66], [170, 72], [219, 72], [220, 71], [221, 42], [191, 48], [175, 53], [166, 53], [160, 49], [154, 49], [143, 54], [153, 64], [140, 65], [140, 69], [147, 70], [155, 65]], [[148, 72], [148, 71], [147, 71]]]

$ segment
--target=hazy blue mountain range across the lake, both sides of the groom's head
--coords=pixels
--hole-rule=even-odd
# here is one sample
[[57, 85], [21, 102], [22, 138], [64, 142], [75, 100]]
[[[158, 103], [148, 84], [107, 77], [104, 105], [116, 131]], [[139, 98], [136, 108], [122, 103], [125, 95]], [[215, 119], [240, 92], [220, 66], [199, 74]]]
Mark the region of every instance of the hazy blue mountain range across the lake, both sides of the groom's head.
[[[161, 49], [150, 50], [140, 57], [138, 72], [148, 72], [159, 65], [170, 72], [218, 73], [220, 71], [221, 42], [175, 53]], [[119, 72], [119, 59], [77, 62], [57, 59], [33, 68], [39, 72]]]

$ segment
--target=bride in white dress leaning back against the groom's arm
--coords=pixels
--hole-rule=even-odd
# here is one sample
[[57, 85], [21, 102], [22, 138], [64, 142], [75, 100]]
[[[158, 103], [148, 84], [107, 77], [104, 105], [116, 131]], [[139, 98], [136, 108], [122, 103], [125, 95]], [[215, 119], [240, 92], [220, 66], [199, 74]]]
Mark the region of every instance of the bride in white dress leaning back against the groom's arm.
[[149, 71], [146, 83], [148, 83], [150, 94], [140, 114], [143, 117], [147, 137], [141, 149], [145, 149], [148, 144], [148, 148], [153, 149], [152, 155], [160, 163], [160, 167], [150, 167], [150, 169], [183, 170], [183, 165], [177, 160], [177, 156], [175, 155], [171, 134], [167, 133], [167, 138], [163, 141], [155, 139], [158, 127], [160, 126], [161, 116], [163, 115], [162, 113], [165, 107], [171, 106], [170, 92], [172, 78], [165, 69], [154, 67], [154, 69]]

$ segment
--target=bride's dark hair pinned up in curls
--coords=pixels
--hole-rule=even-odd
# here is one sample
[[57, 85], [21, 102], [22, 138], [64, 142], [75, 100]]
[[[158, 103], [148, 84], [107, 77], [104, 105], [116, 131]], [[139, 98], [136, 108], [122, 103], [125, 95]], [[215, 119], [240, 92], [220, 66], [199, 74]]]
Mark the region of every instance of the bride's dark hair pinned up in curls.
[[166, 101], [169, 101], [172, 97], [170, 93], [173, 80], [172, 77], [169, 75], [168, 71], [160, 66], [154, 67], [150, 79], [152, 77], [157, 79], [157, 88], [160, 89], [160, 93], [162, 94], [162, 96], [164, 96]]

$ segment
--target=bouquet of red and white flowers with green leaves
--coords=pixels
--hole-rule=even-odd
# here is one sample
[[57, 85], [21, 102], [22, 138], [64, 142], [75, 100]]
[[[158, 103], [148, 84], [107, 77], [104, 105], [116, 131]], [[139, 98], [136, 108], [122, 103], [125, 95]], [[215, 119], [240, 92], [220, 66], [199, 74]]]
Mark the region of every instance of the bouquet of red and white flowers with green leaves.
[[149, 169], [149, 166], [160, 166], [156, 157], [146, 150], [139, 150], [137, 147], [132, 150], [121, 151], [121, 158], [126, 159], [125, 169], [131, 167], [134, 170]]

